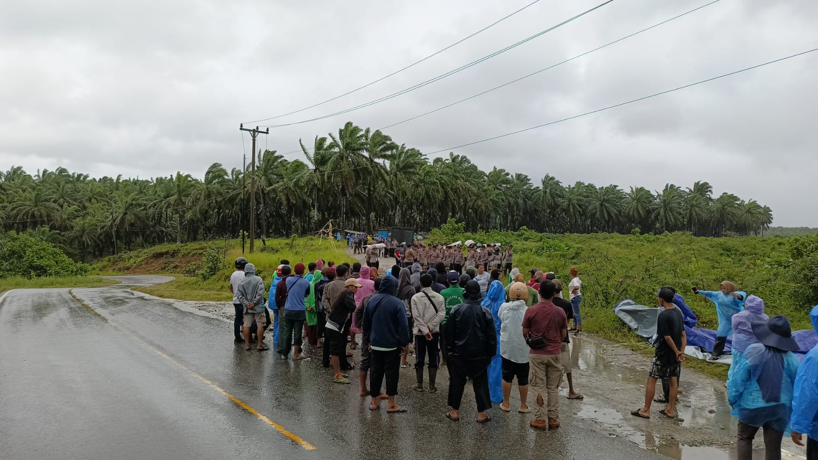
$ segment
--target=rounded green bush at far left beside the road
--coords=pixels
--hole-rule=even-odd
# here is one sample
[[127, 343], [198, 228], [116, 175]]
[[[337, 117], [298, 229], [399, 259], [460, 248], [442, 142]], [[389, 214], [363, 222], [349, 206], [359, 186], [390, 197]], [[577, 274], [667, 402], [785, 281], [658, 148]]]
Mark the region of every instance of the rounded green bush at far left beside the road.
[[9, 232], [0, 240], [0, 277], [78, 277], [90, 269], [38, 238]]

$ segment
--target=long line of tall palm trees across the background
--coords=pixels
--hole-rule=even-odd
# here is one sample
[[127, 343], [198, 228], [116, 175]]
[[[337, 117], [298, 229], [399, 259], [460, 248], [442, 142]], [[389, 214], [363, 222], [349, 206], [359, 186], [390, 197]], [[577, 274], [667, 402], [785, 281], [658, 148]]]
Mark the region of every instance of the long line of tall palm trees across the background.
[[[301, 141], [299, 141], [301, 142]], [[675, 232], [698, 236], [759, 234], [772, 210], [712, 186], [668, 183], [663, 190], [564, 185], [546, 174], [483, 171], [467, 156], [429, 159], [380, 130], [348, 122], [337, 133], [301, 142], [304, 160], [263, 151], [256, 166], [256, 237], [335, 228], [419, 231], [447, 219], [467, 231], [551, 233]], [[0, 224], [61, 244], [78, 259], [162, 242], [236, 237], [249, 228], [249, 165], [214, 163], [203, 179], [177, 173], [150, 179], [91, 178], [64, 168], [0, 174]]]

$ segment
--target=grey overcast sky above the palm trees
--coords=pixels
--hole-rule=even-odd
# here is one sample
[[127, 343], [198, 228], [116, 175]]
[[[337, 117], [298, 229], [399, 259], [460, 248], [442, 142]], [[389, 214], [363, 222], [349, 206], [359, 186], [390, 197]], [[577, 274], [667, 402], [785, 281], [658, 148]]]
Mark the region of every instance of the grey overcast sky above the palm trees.
[[[0, 169], [202, 177], [240, 167], [241, 122], [312, 106], [455, 43], [533, 0], [4, 2]], [[336, 101], [411, 87], [603, 0], [541, 0], [491, 29]], [[346, 121], [378, 129], [493, 88], [709, 0], [614, 0], [479, 65], [375, 106], [271, 129], [279, 152]], [[814, 0], [721, 0], [522, 82], [385, 132], [431, 152], [545, 124], [818, 47]], [[455, 152], [493, 166], [661, 190], [712, 184], [818, 227], [818, 52]], [[253, 124], [255, 125], [255, 124]], [[244, 145], [242, 143], [244, 140]], [[446, 153], [437, 156], [447, 156]], [[288, 158], [300, 158], [297, 154]]]

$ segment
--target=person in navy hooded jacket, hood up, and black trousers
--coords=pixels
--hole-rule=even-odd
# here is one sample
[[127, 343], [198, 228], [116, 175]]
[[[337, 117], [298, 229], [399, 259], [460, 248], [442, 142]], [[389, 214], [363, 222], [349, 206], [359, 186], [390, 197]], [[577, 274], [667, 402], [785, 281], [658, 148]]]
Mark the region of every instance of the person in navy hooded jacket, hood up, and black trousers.
[[371, 349], [369, 388], [370, 410], [378, 409], [380, 387], [386, 377], [388, 413], [407, 412], [407, 408], [395, 402], [398, 395], [400, 360], [402, 350], [409, 348], [409, 323], [403, 303], [395, 297], [398, 280], [389, 275], [380, 281], [380, 292], [366, 304], [363, 314], [363, 334]]

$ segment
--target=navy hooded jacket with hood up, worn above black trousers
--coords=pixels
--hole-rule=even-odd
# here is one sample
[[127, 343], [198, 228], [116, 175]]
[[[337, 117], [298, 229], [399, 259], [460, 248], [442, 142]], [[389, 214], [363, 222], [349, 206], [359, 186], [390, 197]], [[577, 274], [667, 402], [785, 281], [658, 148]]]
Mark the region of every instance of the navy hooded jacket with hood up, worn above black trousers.
[[378, 294], [366, 303], [363, 335], [372, 347], [395, 349], [409, 345], [409, 322], [403, 303], [395, 297], [397, 288], [398, 280], [386, 276], [380, 280]]

